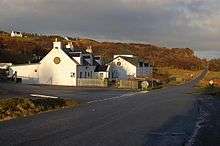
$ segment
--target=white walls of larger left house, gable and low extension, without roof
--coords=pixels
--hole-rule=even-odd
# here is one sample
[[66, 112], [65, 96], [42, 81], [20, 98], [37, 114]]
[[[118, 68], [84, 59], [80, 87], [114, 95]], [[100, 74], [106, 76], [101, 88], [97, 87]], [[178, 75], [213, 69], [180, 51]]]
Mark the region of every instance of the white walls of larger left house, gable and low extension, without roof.
[[[81, 54], [82, 55], [82, 54]], [[89, 61], [92, 62], [92, 55]], [[59, 63], [54, 59], [58, 57]], [[78, 62], [77, 62], [78, 61]], [[72, 59], [63, 50], [61, 42], [53, 42], [53, 49], [40, 61], [39, 64], [12, 66], [12, 74], [17, 71], [17, 77], [23, 83], [77, 86], [77, 78], [95, 79], [96, 66], [80, 65], [81, 58]], [[107, 75], [104, 75], [104, 77]]]

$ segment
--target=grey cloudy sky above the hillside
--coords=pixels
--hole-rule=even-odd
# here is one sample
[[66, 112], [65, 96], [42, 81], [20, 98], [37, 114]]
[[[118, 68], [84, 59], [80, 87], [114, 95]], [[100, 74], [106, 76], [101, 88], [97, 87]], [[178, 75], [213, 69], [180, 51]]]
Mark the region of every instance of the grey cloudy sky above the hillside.
[[0, 29], [220, 51], [219, 0], [0, 0]]

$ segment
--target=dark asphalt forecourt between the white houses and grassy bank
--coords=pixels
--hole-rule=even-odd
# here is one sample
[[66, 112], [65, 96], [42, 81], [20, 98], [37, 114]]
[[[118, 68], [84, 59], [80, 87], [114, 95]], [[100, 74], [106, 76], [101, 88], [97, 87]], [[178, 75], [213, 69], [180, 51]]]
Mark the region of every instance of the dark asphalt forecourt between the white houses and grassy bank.
[[62, 98], [73, 98], [85, 102], [121, 96], [128, 93], [133, 92], [113, 88], [80, 88], [0, 82], [0, 98], [29, 97], [31, 94], [37, 94]]

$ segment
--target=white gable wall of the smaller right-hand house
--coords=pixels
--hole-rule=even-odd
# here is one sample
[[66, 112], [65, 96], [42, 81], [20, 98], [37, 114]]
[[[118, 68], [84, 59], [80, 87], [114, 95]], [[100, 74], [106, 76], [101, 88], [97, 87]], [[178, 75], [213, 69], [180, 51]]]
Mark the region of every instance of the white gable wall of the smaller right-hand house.
[[[120, 62], [121, 65], [118, 66], [117, 63]], [[128, 79], [129, 76], [136, 77], [136, 66], [124, 60], [121, 57], [114, 59], [110, 64], [110, 78], [117, 77], [117, 79]]]

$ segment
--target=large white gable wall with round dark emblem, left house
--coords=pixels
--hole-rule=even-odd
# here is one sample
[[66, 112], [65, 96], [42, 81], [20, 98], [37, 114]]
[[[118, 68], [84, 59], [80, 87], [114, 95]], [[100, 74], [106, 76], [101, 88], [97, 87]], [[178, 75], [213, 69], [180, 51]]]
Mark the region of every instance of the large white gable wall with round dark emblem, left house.
[[[59, 64], [54, 63], [55, 57], [60, 58]], [[40, 63], [40, 84], [76, 86], [77, 64], [62, 49], [52, 49]]]

